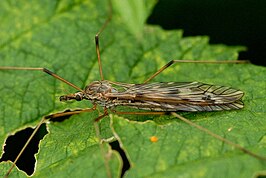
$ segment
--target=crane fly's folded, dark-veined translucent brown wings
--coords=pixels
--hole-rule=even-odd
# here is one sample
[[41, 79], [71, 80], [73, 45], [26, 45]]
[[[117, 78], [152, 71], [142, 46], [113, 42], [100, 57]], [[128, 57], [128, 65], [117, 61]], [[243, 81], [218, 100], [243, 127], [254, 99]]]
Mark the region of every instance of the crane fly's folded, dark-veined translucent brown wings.
[[[126, 86], [124, 86], [126, 87]], [[217, 111], [243, 108], [244, 93], [231, 87], [200, 82], [129, 84], [111, 106], [124, 105], [156, 111]]]

